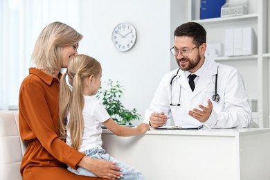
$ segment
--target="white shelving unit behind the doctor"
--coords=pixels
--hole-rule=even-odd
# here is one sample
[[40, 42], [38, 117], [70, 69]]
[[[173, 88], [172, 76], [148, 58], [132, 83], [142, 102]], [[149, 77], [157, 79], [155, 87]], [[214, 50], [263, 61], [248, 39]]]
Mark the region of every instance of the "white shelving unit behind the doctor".
[[[235, 66], [238, 71], [242, 71], [244, 79], [248, 80], [245, 84], [249, 98], [258, 100], [258, 112], [253, 118], [258, 120], [260, 127], [270, 127], [270, 45], [267, 43], [270, 38], [268, 33], [270, 28], [270, 2], [267, 0], [249, 0], [249, 14], [247, 15], [210, 19], [199, 19], [200, 0], [186, 0], [186, 3], [188, 10], [187, 21], [195, 21], [206, 28], [208, 43], [221, 43], [224, 45], [226, 29], [253, 28], [257, 37], [256, 55], [222, 56], [213, 57], [213, 59], [217, 62], [224, 62], [224, 64], [228, 62], [229, 65]], [[222, 50], [224, 50], [224, 46]]]

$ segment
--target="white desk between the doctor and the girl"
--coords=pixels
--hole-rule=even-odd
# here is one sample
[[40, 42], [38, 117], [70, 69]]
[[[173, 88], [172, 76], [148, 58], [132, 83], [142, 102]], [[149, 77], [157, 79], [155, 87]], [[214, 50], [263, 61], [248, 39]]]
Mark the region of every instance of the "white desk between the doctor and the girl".
[[153, 129], [133, 137], [104, 129], [102, 141], [147, 180], [270, 179], [270, 129]]

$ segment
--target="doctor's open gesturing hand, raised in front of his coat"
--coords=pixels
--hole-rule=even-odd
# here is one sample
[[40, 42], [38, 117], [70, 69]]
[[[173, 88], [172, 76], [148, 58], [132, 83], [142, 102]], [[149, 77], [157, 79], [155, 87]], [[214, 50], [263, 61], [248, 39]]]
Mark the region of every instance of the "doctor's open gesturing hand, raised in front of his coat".
[[207, 103], [208, 105], [206, 107], [204, 107], [203, 105], [199, 105], [199, 108], [201, 108], [201, 110], [194, 108], [192, 109], [192, 111], [188, 111], [188, 115], [192, 116], [192, 118], [199, 120], [199, 122], [201, 123], [206, 122], [213, 109], [213, 104], [209, 99], [207, 100]]

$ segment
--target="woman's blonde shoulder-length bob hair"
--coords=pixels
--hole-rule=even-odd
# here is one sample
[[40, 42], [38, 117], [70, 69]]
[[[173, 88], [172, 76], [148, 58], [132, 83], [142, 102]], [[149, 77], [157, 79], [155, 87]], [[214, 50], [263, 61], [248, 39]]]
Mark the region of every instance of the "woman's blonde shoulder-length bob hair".
[[37, 37], [32, 58], [38, 69], [49, 72], [59, 71], [62, 64], [62, 48], [72, 46], [82, 35], [62, 22], [48, 24]]

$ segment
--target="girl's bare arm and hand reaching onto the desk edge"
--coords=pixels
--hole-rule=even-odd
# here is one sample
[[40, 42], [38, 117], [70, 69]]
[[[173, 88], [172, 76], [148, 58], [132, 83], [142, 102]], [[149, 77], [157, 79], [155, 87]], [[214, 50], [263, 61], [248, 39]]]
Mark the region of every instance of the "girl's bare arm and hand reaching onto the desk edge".
[[109, 118], [105, 122], [102, 123], [109, 129], [111, 132], [116, 134], [117, 136], [135, 136], [138, 134], [145, 134], [147, 130], [150, 130], [149, 124], [141, 123], [136, 127], [126, 127], [118, 125], [114, 120]]

